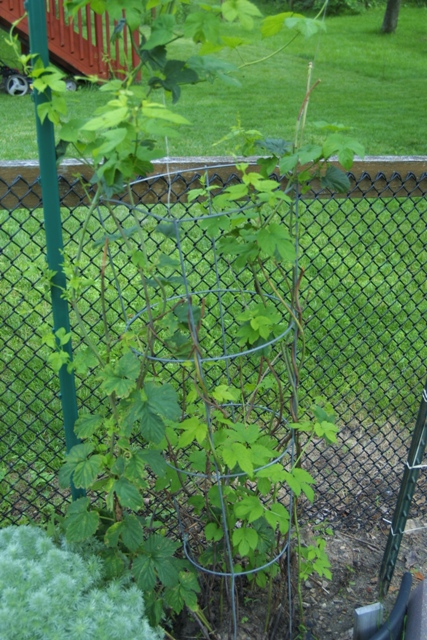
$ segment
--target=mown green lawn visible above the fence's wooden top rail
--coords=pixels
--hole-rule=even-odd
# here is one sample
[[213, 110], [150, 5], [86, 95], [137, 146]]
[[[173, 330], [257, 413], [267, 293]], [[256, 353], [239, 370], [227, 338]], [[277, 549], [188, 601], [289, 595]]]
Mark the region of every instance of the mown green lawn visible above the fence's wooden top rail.
[[[190, 114], [192, 127], [170, 141], [170, 155], [221, 155], [227, 143], [212, 146], [240, 118], [245, 128], [268, 136], [293, 139], [294, 123], [306, 86], [307, 65], [314, 61], [307, 136], [316, 138], [313, 123], [340, 122], [365, 146], [369, 155], [424, 155], [427, 153], [427, 7], [403, 6], [394, 35], [379, 32], [383, 9], [358, 16], [328, 18], [326, 32], [304, 40], [264, 63], [243, 66], [236, 74], [243, 89], [220, 82], [188, 87], [176, 105]], [[235, 27], [230, 32], [236, 35]], [[244, 32], [240, 35], [244, 36]], [[223, 53], [237, 66], [267, 56], [289, 33], [256, 41], [241, 52]], [[173, 53], [181, 57], [190, 42], [179, 41]], [[0, 40], [0, 58], [12, 64], [9, 48]], [[96, 88], [81, 88], [67, 96], [70, 112], [93, 112], [104, 99]], [[29, 96], [0, 94], [2, 131], [0, 158], [37, 157], [33, 103]]]

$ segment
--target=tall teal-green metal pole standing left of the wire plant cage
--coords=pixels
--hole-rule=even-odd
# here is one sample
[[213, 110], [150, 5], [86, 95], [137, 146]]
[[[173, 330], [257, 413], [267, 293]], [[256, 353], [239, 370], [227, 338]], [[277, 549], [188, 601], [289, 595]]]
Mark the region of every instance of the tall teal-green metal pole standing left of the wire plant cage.
[[[28, 13], [30, 50], [40, 57], [43, 64], [49, 64], [47, 45], [46, 6], [45, 0], [26, 0], [25, 9]], [[63, 240], [62, 223], [56, 170], [55, 135], [53, 124], [46, 118], [42, 123], [37, 114], [39, 104], [49, 100], [49, 95], [43, 95], [36, 90], [33, 93], [36, 108], [37, 143], [39, 149], [40, 179], [43, 196], [43, 212], [46, 233], [47, 263], [49, 269], [55, 272], [52, 278], [51, 296], [54, 331], [60, 327], [70, 331], [70, 317], [68, 302], [61, 297], [66, 287], [66, 278], [62, 269]], [[64, 349], [72, 357], [71, 341]], [[74, 374], [67, 371], [64, 365], [59, 371], [61, 389], [61, 404], [64, 418], [65, 443], [67, 451], [79, 440], [74, 433], [74, 423], [77, 419], [77, 397]], [[73, 499], [83, 495], [83, 492], [71, 486]]]

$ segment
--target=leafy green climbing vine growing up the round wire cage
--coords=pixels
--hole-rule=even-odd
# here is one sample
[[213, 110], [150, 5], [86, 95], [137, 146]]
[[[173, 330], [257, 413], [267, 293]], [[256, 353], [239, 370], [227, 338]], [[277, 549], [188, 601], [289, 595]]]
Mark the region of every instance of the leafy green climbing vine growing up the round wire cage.
[[[85, 4], [70, 2], [69, 7], [75, 11]], [[114, 0], [90, 4], [117, 18], [114, 38], [119, 38], [122, 5]], [[152, 160], [161, 155], [159, 139], [189, 126], [165, 106], [163, 94], [176, 102], [184, 84], [215, 78], [236, 83], [233, 66], [212, 55], [243, 45], [227, 35], [222, 20], [250, 30], [259, 11], [246, 0], [227, 0], [221, 6], [195, 5], [179, 22], [177, 8], [176, 2], [155, 0], [126, 4], [129, 28], [140, 29], [139, 44], [134, 40], [140, 64], [124, 78], [101, 84], [105, 105], [87, 118], [68, 119], [61, 74], [32, 60], [34, 88], [49, 96], [38, 115], [60, 126], [59, 155], [71, 147], [73, 155], [93, 166], [77, 253], [64, 257], [68, 289], [63, 295], [85, 347], [70, 362], [62, 347], [71, 335], [64, 329], [47, 333], [45, 342], [53, 348], [49, 361], [55, 369], [67, 366], [89, 376], [103, 397], [95, 411], [81, 413], [75, 425], [81, 444], [68, 453], [60, 472], [64, 487], [71, 480], [100, 496], [100, 502], [82, 496], [70, 505], [62, 523], [67, 539], [102, 540], [107, 574], [131, 571], [153, 625], [165, 610], [179, 613], [187, 606], [208, 628], [198, 603], [195, 563], [180, 556], [180, 542], [167, 534], [167, 516], [158, 506], [164, 500], [178, 505], [186, 545], [202, 572], [245, 573], [249, 582], [268, 587], [269, 610], [273, 580], [285, 570], [282, 551], [291, 523], [300, 580], [312, 572], [330, 576], [324, 541], [319, 537], [303, 546], [298, 527], [298, 498], [314, 499], [314, 479], [302, 466], [304, 453], [313, 438], [334, 442], [336, 427], [327, 405], [299, 409], [304, 322], [296, 220], [300, 195], [314, 179], [332, 190], [348, 188], [345, 173], [329, 158], [337, 154], [348, 169], [362, 150], [339, 132], [321, 145], [303, 143], [309, 86], [293, 144], [236, 129], [232, 136], [243, 135], [243, 152], [262, 155], [258, 169], [241, 161], [241, 184], [218, 192], [206, 177], [190, 192], [200, 228], [228, 265], [241, 299], [230, 332], [242, 355], [232, 376], [221, 371], [214, 383], [207, 380], [201, 364], [216, 340], [215, 320], [203, 296], [176, 295], [182, 284], [179, 232], [173, 224], [155, 224], [134, 202], [130, 183], [152, 170]], [[316, 20], [291, 13], [262, 22], [265, 37], [286, 29], [309, 36], [319, 28]], [[181, 37], [192, 39], [195, 55], [170, 59], [168, 44]], [[135, 84], [141, 69], [145, 82]], [[271, 177], [275, 171], [285, 179], [282, 188]], [[124, 194], [125, 215], [117, 194]], [[112, 225], [109, 232], [97, 222], [101, 209]], [[156, 252], [149, 250], [153, 234]], [[99, 250], [95, 276], [88, 275], [86, 264], [89, 236]], [[109, 303], [113, 245], [126, 255], [129, 278], [139, 281], [144, 308], [139, 328], [127, 323], [120, 337]], [[101, 321], [94, 331], [86, 321], [86, 305], [96, 298]], [[178, 385], [159, 365], [166, 356], [180, 370]], [[147, 496], [153, 495], [163, 502], [150, 501]], [[289, 495], [290, 500], [284, 497]], [[271, 562], [274, 558], [278, 561]]]

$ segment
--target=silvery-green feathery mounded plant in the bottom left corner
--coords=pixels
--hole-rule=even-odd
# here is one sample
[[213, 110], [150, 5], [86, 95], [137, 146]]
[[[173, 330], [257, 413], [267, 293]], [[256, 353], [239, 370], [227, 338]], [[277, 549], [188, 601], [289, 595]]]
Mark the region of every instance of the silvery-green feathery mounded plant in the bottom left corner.
[[93, 555], [59, 549], [31, 526], [0, 529], [1, 640], [161, 640], [141, 591], [103, 583]]

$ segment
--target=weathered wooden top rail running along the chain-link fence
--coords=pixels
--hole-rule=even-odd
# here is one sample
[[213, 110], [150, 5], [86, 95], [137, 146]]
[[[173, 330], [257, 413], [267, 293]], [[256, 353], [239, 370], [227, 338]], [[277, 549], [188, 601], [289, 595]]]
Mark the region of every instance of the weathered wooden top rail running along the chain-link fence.
[[[197, 179], [206, 171], [227, 182], [238, 176], [236, 164], [249, 162], [256, 168], [257, 157], [202, 156], [161, 158], [153, 162], [154, 172], [135, 181], [134, 193], [141, 200], [163, 200], [165, 181], [173, 180], [173, 197], [185, 200], [188, 182], [197, 187]], [[335, 160], [335, 162], [337, 162]], [[85, 205], [86, 191], [81, 183], [89, 180], [92, 168], [78, 160], [65, 160], [58, 168], [61, 203], [66, 207]], [[179, 177], [182, 179], [180, 180]], [[334, 194], [340, 198], [392, 198], [427, 195], [427, 156], [367, 156], [356, 158], [351, 171], [350, 191]], [[87, 188], [87, 187], [86, 187]], [[331, 193], [314, 182], [305, 198], [331, 197]], [[0, 209], [41, 206], [40, 171], [37, 160], [0, 162]]]

